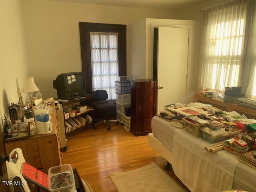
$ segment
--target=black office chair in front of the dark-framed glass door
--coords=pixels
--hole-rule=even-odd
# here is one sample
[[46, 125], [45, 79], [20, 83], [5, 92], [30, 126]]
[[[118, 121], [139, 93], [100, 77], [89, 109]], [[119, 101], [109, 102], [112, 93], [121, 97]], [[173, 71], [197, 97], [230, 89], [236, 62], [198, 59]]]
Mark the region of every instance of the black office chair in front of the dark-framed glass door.
[[112, 102], [106, 101], [108, 99], [108, 93], [106, 90], [96, 90], [92, 92], [93, 95], [93, 108], [94, 108], [94, 119], [95, 125], [104, 123], [108, 125], [108, 130], [110, 130], [109, 122], [116, 122], [116, 105]]

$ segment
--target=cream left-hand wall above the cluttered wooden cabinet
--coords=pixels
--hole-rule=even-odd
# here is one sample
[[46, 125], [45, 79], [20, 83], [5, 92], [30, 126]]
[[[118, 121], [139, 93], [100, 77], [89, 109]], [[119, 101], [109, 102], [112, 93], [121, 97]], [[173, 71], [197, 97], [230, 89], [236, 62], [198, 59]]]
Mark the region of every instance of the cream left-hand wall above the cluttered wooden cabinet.
[[[18, 102], [17, 87], [22, 89], [28, 76], [25, 37], [20, 0], [0, 1], [0, 154], [4, 112]], [[7, 112], [9, 114], [9, 112]], [[0, 191], [6, 191], [0, 187]]]

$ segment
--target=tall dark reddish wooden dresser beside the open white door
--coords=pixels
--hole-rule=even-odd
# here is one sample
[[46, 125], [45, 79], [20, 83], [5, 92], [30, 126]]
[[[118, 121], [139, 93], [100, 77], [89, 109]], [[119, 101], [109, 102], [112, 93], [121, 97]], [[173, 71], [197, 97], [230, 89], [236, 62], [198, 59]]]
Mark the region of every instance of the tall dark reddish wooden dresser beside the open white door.
[[135, 136], [151, 133], [151, 119], [157, 112], [157, 81], [131, 81], [131, 127]]

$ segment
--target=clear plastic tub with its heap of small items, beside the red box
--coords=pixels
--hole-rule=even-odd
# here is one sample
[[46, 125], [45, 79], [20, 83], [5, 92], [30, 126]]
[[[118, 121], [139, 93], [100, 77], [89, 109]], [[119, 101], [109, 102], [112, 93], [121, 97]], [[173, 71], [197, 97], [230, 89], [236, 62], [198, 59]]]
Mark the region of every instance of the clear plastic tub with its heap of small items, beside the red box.
[[51, 167], [48, 170], [48, 180], [51, 192], [76, 191], [74, 173], [70, 164]]

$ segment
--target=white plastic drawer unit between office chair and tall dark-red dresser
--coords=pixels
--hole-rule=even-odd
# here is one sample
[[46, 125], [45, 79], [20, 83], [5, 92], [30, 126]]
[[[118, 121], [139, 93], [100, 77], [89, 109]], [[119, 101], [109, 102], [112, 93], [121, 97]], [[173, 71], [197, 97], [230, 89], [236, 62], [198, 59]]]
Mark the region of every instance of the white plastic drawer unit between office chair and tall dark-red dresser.
[[131, 94], [116, 93], [116, 120], [124, 123], [124, 111], [126, 107], [131, 106]]

